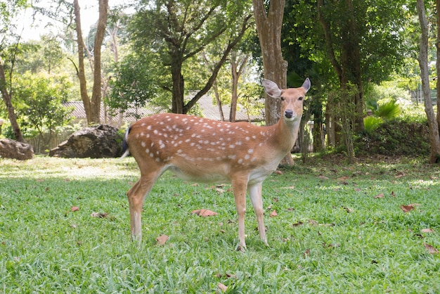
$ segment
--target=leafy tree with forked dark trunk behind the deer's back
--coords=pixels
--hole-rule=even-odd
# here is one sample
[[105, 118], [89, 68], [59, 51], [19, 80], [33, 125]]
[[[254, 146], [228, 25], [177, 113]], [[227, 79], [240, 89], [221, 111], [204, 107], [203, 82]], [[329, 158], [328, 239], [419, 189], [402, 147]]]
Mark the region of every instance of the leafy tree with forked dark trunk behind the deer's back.
[[[166, 81], [162, 89], [172, 91], [172, 112], [188, 113], [198, 99], [211, 89], [228, 53], [250, 27], [251, 15], [246, 2], [228, 1], [142, 1], [132, 23], [136, 50], [149, 46], [160, 55], [162, 64], [169, 68], [172, 85]], [[184, 101], [185, 63], [200, 53], [221, 35], [229, 37], [216, 66], [207, 81], [200, 82], [200, 91]]]

